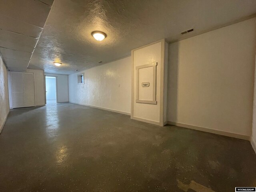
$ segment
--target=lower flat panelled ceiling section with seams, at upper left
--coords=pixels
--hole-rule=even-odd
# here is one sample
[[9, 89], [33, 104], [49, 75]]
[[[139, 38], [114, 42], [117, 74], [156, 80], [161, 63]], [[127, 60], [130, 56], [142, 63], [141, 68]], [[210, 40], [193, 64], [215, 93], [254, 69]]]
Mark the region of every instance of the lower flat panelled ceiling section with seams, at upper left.
[[24, 71], [53, 0], [0, 0], [0, 53], [9, 70]]

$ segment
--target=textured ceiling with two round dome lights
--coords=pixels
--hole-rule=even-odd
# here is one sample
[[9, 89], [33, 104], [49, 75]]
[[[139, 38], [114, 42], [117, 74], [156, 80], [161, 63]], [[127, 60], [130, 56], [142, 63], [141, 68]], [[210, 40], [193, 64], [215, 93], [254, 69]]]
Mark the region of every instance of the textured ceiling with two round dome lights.
[[[256, 0], [55, 0], [29, 68], [72, 74], [162, 38], [174, 42], [254, 14]], [[94, 40], [94, 30], [107, 38]], [[56, 67], [54, 61], [63, 64]]]

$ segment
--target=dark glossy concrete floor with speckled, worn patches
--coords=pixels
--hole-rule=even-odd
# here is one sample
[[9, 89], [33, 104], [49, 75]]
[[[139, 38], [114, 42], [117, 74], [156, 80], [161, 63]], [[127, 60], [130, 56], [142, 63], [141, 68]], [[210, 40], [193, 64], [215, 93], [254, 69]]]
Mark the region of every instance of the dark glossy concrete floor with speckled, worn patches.
[[256, 186], [256, 154], [248, 141], [70, 103], [11, 110], [0, 135], [1, 192], [183, 192], [191, 181]]

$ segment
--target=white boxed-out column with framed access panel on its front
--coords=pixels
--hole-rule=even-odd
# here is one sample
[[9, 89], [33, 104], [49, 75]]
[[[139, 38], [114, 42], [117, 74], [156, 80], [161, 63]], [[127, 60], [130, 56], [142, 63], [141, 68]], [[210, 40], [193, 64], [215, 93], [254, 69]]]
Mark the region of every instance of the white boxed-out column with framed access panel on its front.
[[132, 50], [131, 118], [164, 126], [168, 44], [160, 40]]

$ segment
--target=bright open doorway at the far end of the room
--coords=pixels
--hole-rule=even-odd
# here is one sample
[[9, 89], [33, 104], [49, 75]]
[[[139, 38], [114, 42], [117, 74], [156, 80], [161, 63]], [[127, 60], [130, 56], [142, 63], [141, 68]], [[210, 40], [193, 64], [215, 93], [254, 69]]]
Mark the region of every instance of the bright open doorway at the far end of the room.
[[46, 104], [56, 104], [56, 77], [45, 77]]

